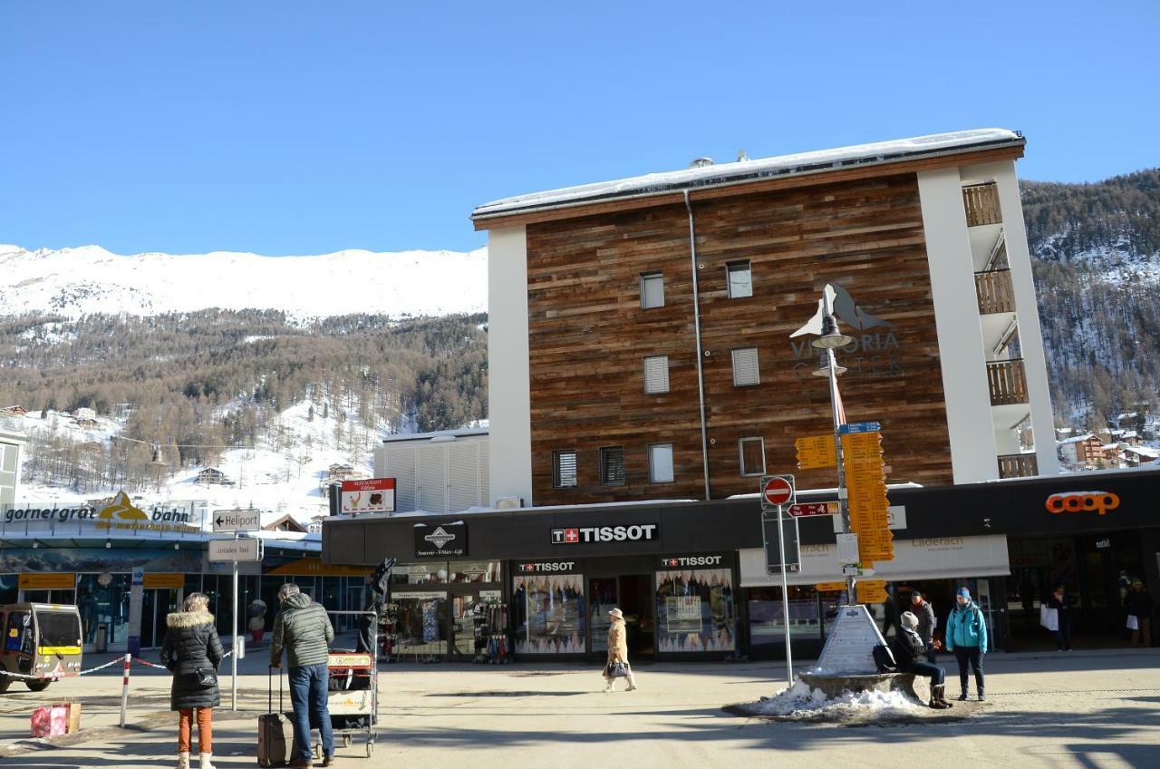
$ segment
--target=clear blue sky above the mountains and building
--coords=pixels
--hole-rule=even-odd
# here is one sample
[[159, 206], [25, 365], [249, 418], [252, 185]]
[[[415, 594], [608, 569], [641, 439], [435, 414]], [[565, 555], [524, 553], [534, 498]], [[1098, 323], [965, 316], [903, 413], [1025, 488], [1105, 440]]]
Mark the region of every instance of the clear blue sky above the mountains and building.
[[1160, 3], [778, 5], [5, 2], [0, 243], [466, 250], [496, 197], [989, 125], [1160, 165]]

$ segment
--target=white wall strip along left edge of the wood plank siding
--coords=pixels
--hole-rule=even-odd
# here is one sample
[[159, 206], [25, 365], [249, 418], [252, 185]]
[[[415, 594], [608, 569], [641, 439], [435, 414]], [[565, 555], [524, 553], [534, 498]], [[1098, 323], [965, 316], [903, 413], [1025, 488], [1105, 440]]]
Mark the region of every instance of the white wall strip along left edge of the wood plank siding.
[[487, 242], [487, 417], [490, 504], [520, 497], [531, 506], [531, 396], [528, 373], [528, 235], [491, 230]]

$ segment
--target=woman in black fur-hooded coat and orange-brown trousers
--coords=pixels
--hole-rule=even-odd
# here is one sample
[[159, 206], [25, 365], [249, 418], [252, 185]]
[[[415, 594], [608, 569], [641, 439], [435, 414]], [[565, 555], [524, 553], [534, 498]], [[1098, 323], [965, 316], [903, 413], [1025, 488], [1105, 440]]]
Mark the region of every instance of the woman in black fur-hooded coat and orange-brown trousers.
[[197, 721], [200, 769], [213, 769], [213, 709], [222, 704], [217, 669], [224, 654], [209, 612], [210, 599], [191, 592], [165, 618], [161, 664], [173, 674], [169, 709], [177, 711], [177, 769], [189, 769], [194, 721]]

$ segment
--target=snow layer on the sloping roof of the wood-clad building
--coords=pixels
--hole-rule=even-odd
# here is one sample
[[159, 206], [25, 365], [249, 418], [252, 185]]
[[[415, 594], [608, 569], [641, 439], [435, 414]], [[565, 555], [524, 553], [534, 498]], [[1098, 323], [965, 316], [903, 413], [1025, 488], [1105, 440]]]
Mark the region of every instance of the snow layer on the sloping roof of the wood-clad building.
[[1022, 135], [1003, 128], [981, 128], [950, 134], [931, 134], [906, 139], [855, 144], [833, 150], [815, 150], [756, 160], [739, 160], [708, 166], [650, 173], [614, 181], [600, 181], [575, 187], [515, 195], [484, 203], [471, 218], [486, 220], [529, 210], [565, 208], [617, 197], [641, 197], [698, 187], [757, 181], [771, 177], [790, 177], [836, 171], [848, 166], [893, 163], [916, 157], [952, 154], [993, 146], [1023, 144]]

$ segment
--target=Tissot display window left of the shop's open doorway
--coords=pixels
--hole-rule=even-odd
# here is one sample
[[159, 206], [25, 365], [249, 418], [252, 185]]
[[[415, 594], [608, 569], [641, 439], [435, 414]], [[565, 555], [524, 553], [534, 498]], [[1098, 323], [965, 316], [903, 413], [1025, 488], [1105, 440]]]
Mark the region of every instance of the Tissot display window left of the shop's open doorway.
[[585, 595], [581, 574], [528, 574], [513, 580], [517, 654], [581, 654]]

